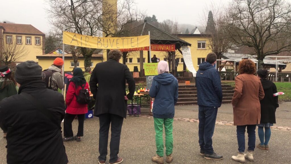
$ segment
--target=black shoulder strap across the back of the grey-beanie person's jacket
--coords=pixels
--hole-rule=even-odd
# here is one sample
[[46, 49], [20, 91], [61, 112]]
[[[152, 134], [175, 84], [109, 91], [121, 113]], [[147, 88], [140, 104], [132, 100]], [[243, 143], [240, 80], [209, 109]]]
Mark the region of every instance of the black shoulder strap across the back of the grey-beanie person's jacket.
[[33, 104], [34, 106], [36, 106], [36, 108], [43, 114], [45, 115], [47, 118], [49, 118], [57, 127], [58, 129], [61, 130], [61, 126], [57, 123], [56, 119], [54, 118], [54, 116], [52, 115], [51, 111], [49, 111], [48, 109], [45, 109], [43, 107], [43, 105], [41, 105], [38, 100], [36, 100], [33, 96], [27, 94], [27, 93], [20, 93], [19, 95], [21, 95], [22, 97], [24, 97], [26, 100], [28, 100], [29, 102], [31, 102], [31, 104]]

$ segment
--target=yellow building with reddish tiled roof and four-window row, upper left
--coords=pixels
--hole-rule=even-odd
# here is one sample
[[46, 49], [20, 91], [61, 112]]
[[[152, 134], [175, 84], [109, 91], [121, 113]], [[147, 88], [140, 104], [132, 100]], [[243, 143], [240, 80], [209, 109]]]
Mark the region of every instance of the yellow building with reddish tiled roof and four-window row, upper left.
[[38, 62], [36, 56], [45, 53], [45, 34], [32, 25], [0, 23], [0, 51], [9, 46], [23, 47], [26, 52], [16, 64], [27, 60]]

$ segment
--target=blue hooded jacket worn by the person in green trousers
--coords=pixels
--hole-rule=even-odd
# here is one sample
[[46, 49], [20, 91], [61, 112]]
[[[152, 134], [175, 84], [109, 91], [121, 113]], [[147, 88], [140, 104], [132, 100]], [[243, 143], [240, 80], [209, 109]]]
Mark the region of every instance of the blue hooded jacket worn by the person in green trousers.
[[172, 74], [162, 73], [155, 76], [149, 94], [155, 98], [152, 110], [155, 118], [174, 118], [178, 80]]

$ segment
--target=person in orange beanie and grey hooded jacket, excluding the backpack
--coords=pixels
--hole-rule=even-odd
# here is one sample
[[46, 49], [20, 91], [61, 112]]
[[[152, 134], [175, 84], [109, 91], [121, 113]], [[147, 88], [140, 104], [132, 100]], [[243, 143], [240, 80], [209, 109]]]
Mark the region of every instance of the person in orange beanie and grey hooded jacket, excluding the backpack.
[[64, 61], [60, 57], [57, 57], [54, 60], [54, 64], [49, 67], [49, 71], [52, 71], [52, 90], [58, 90], [64, 88], [64, 77], [62, 75], [62, 67]]

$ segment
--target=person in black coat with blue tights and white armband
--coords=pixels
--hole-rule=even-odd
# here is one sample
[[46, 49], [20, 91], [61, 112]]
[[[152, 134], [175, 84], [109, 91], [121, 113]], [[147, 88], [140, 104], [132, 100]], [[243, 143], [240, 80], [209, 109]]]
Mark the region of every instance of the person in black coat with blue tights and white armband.
[[[258, 69], [257, 71], [258, 78], [262, 82], [262, 86], [265, 92], [265, 97], [260, 101], [261, 104], [261, 121], [258, 124], [258, 135], [260, 138], [260, 144], [257, 145], [259, 149], [269, 150], [269, 140], [271, 137], [271, 126], [276, 123], [275, 112], [279, 107], [278, 104], [278, 95], [274, 96], [274, 93], [277, 93], [276, 85], [267, 80], [268, 71], [266, 69]], [[265, 133], [264, 133], [265, 127]], [[265, 138], [265, 141], [264, 141]]]

